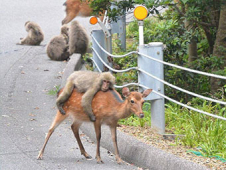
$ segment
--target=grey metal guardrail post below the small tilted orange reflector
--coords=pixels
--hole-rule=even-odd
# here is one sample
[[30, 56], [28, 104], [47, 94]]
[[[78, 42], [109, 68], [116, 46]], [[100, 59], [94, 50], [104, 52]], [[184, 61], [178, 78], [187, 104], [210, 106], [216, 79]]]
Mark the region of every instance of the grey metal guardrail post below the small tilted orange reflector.
[[[93, 37], [97, 40], [97, 42], [109, 53], [112, 53], [112, 42], [111, 42], [111, 36], [106, 38], [103, 30], [93, 30], [92, 31]], [[106, 62], [108, 65], [112, 65], [107, 59], [108, 55], [103, 52], [99, 46], [96, 44], [96, 42], [92, 38], [92, 44], [93, 48], [97, 51], [99, 56]], [[98, 67], [101, 69], [101, 71], [105, 71], [105, 67], [103, 63], [100, 61], [96, 53], [93, 51], [93, 59], [97, 63]], [[94, 69], [94, 71], [98, 71], [97, 69]]]

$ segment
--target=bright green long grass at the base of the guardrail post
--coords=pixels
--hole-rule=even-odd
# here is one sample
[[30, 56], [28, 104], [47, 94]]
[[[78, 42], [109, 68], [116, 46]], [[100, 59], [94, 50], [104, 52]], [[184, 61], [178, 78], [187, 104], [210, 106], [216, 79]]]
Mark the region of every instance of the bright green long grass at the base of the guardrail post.
[[[189, 104], [200, 110], [226, 117], [226, 107], [222, 108], [220, 105], [213, 105], [206, 101], [203, 101], [202, 105], [200, 105], [199, 99], [193, 99]], [[143, 108], [145, 113], [144, 119], [131, 116], [120, 120], [119, 123], [129, 126], [150, 126], [150, 107], [150, 104], [146, 102]], [[205, 157], [221, 157], [224, 160], [226, 159], [225, 121], [190, 111], [171, 102], [165, 105], [165, 118], [166, 129], [180, 136], [176, 138], [177, 145], [182, 144], [190, 147], [199, 151]], [[184, 137], [182, 138], [181, 135]]]

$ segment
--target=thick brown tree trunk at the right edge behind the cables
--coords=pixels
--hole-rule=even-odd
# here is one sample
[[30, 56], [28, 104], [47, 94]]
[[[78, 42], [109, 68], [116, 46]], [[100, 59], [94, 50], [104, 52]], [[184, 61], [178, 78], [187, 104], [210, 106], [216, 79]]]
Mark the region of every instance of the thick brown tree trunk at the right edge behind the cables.
[[[219, 57], [224, 61], [220, 68], [215, 68], [213, 71], [224, 69], [226, 65], [226, 2], [222, 2], [220, 11], [219, 27], [217, 30], [217, 37], [214, 44], [213, 56]], [[216, 92], [222, 85], [220, 81], [211, 78], [211, 91]]]

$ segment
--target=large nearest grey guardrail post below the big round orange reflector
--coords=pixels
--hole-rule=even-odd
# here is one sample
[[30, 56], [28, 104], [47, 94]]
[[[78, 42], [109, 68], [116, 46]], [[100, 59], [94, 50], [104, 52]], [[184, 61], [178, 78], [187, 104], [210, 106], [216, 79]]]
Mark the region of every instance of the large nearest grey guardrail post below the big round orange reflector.
[[[163, 60], [163, 43], [153, 42], [139, 46], [139, 52], [148, 56]], [[142, 55], [138, 57], [138, 67], [155, 77], [164, 80], [163, 64], [148, 59]], [[164, 94], [164, 84], [158, 80], [139, 72], [138, 82], [147, 86], [159, 93]], [[165, 100], [161, 96], [152, 93], [146, 100], [151, 101], [151, 127], [157, 130], [158, 133], [165, 133]]]

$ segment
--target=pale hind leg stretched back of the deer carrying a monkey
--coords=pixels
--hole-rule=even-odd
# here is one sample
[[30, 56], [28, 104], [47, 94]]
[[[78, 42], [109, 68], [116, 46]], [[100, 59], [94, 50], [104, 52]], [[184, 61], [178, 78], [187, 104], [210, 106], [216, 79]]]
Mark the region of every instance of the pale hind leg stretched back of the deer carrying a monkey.
[[44, 150], [45, 150], [45, 147], [46, 147], [46, 144], [48, 143], [50, 136], [52, 135], [52, 133], [54, 132], [54, 130], [57, 128], [57, 126], [63, 120], [65, 120], [67, 117], [68, 117], [68, 115], [62, 115], [59, 111], [57, 111], [57, 114], [55, 116], [55, 119], [53, 120], [52, 125], [49, 128], [48, 134], [46, 135], [46, 138], [45, 138], [44, 145], [43, 145], [42, 149], [39, 151], [39, 154], [38, 154], [38, 158], [37, 159], [42, 159], [43, 153], [44, 153]]

